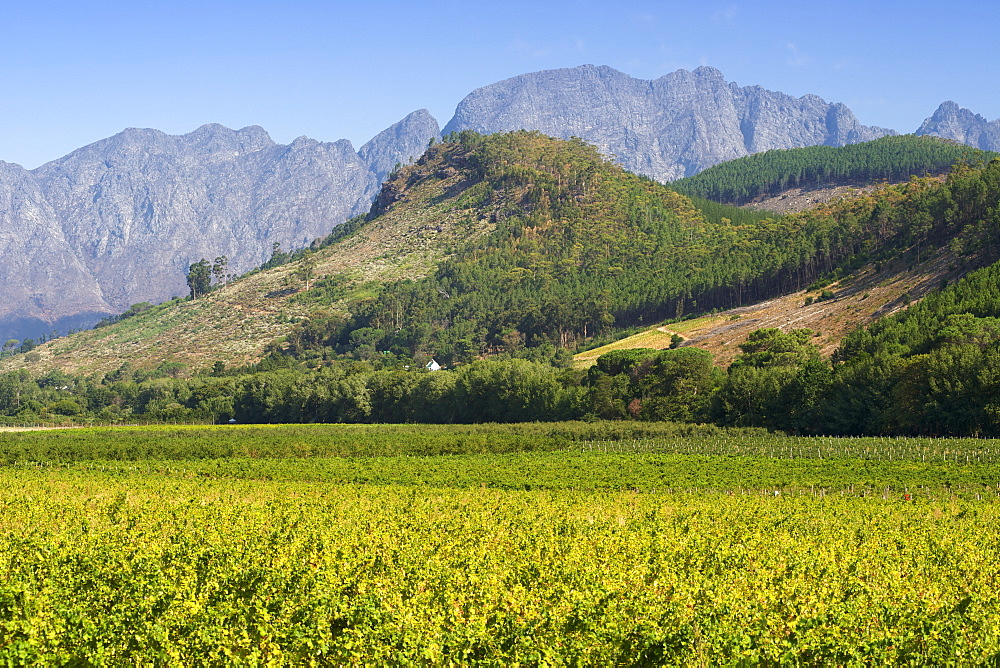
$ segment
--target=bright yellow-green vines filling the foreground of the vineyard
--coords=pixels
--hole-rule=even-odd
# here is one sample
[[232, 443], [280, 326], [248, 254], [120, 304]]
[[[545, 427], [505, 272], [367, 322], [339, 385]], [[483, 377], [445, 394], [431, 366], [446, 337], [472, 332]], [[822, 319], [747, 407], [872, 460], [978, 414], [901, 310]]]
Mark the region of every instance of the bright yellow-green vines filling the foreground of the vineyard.
[[995, 502], [0, 477], [7, 665], [1000, 659]]

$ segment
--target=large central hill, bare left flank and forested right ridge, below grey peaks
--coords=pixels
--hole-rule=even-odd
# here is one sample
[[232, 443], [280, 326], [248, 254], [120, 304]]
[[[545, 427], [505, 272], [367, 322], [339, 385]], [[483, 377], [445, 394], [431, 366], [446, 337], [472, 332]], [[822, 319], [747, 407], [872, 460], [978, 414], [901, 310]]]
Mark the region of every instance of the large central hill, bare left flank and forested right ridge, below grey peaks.
[[[168, 363], [198, 371], [268, 352], [312, 365], [423, 364], [429, 356], [454, 365], [498, 353], [545, 355], [595, 335], [782, 295], [793, 296], [766, 326], [784, 316], [814, 322], [832, 348], [852, 323], [902, 308], [940, 279], [1000, 255], [980, 224], [1000, 197], [998, 173], [1000, 163], [965, 167], [944, 181], [918, 177], [777, 219], [735, 210], [755, 217], [734, 224], [724, 205], [709, 216], [580, 140], [460, 133], [397, 170], [372, 214], [315, 253], [51, 341], [0, 367], [100, 375], [127, 362], [133, 370]], [[869, 267], [867, 278], [846, 276], [859, 266]], [[831, 284], [838, 276], [839, 286]], [[794, 293], [807, 286], [815, 295], [804, 309], [805, 296]], [[765, 326], [762, 317], [752, 309], [716, 317], [720, 345], [735, 346]]]

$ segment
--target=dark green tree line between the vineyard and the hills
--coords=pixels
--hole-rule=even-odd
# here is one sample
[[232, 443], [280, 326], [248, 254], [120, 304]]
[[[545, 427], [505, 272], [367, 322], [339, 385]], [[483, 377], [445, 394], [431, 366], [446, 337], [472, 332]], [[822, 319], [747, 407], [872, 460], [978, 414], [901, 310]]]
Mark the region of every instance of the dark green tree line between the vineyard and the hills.
[[[714, 422], [795, 434], [1000, 436], [1000, 263], [850, 334], [831, 360], [809, 330], [762, 329], [726, 369], [693, 348], [616, 350], [573, 369], [554, 346], [428, 372], [382, 355], [276, 355], [186, 378], [165, 362], [102, 378], [0, 376], [0, 415], [225, 422]], [[310, 368], [312, 365], [312, 368]]]

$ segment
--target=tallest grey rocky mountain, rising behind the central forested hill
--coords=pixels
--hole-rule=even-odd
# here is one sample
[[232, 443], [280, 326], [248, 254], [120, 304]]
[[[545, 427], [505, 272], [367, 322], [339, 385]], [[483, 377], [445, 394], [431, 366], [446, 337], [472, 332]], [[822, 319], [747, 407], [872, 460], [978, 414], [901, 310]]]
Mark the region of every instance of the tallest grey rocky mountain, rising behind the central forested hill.
[[594, 65], [480, 88], [462, 100], [443, 132], [466, 129], [580, 137], [629, 171], [659, 181], [769, 149], [843, 146], [895, 134], [861, 125], [843, 104], [740, 87], [711, 67], [648, 81]]

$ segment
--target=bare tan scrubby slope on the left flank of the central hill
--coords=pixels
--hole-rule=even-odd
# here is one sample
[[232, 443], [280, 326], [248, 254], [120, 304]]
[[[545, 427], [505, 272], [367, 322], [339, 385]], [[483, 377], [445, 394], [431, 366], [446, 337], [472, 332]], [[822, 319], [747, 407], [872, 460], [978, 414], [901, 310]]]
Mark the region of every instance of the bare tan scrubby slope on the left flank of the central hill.
[[[486, 219], [457, 213], [446, 196], [461, 179], [455, 173], [421, 180], [406, 195], [409, 206], [394, 207], [316, 253], [313, 280], [337, 276], [346, 287], [334, 310], [364, 299], [373, 283], [426, 275], [445, 256], [444, 249], [490, 229]], [[56, 339], [34, 354], [3, 360], [0, 371], [103, 374], [126, 362], [133, 368], [154, 368], [175, 361], [192, 370], [216, 360], [227, 365], [255, 362], [291, 322], [312, 310], [295, 299], [306, 287], [297, 275], [300, 266], [293, 262], [250, 274], [203, 298], [168, 302], [108, 327]]]

